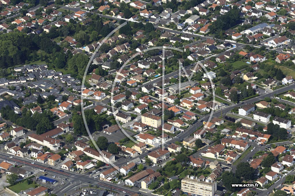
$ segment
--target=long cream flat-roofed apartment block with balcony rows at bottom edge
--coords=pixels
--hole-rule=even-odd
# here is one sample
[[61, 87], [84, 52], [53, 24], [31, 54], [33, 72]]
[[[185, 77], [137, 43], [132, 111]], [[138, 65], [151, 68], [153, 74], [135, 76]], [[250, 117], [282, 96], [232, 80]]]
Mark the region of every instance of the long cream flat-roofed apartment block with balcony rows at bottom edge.
[[188, 175], [181, 180], [181, 190], [188, 195], [213, 196], [217, 182]]

